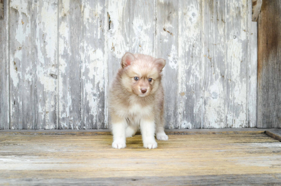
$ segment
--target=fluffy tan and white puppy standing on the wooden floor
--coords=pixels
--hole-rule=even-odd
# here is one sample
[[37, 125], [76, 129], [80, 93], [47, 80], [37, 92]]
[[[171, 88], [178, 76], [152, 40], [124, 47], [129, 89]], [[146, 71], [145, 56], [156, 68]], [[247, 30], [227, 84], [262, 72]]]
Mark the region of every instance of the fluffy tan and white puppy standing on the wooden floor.
[[125, 148], [126, 137], [141, 128], [143, 146], [157, 148], [168, 140], [164, 132], [164, 91], [161, 71], [165, 60], [127, 52], [109, 92], [113, 148]]

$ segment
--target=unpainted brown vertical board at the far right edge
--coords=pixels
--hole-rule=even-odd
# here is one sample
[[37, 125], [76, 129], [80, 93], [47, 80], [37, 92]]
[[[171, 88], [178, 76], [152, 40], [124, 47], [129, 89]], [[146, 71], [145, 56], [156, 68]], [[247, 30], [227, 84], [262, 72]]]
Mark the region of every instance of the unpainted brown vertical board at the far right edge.
[[281, 128], [281, 0], [262, 2], [258, 18], [257, 127]]

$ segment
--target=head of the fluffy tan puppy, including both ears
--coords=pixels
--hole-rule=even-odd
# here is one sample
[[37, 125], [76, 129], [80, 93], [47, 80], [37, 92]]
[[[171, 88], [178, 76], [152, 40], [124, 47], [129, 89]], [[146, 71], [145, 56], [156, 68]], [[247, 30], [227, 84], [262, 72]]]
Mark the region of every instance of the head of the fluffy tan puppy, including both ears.
[[127, 52], [122, 57], [121, 66], [122, 85], [125, 89], [139, 97], [145, 97], [157, 91], [165, 60]]

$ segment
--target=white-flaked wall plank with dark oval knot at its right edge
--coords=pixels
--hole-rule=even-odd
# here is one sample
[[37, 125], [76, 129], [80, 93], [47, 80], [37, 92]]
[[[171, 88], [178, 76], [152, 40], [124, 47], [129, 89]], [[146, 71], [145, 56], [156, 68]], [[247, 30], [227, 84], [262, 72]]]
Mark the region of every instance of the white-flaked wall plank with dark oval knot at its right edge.
[[[32, 50], [33, 129], [56, 129], [57, 124], [57, 1], [34, 1]], [[30, 58], [30, 57], [29, 57]]]

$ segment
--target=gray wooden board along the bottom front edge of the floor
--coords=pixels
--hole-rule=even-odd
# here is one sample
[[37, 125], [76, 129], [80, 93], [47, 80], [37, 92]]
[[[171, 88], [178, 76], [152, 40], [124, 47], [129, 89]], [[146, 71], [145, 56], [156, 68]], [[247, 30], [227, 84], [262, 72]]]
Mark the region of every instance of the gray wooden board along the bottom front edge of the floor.
[[[9, 176], [9, 173], [5, 173]], [[12, 176], [12, 175], [11, 175]], [[61, 179], [0, 179], [5, 185], [280, 185], [281, 174], [221, 174], [199, 176], [147, 176], [110, 178]]]

